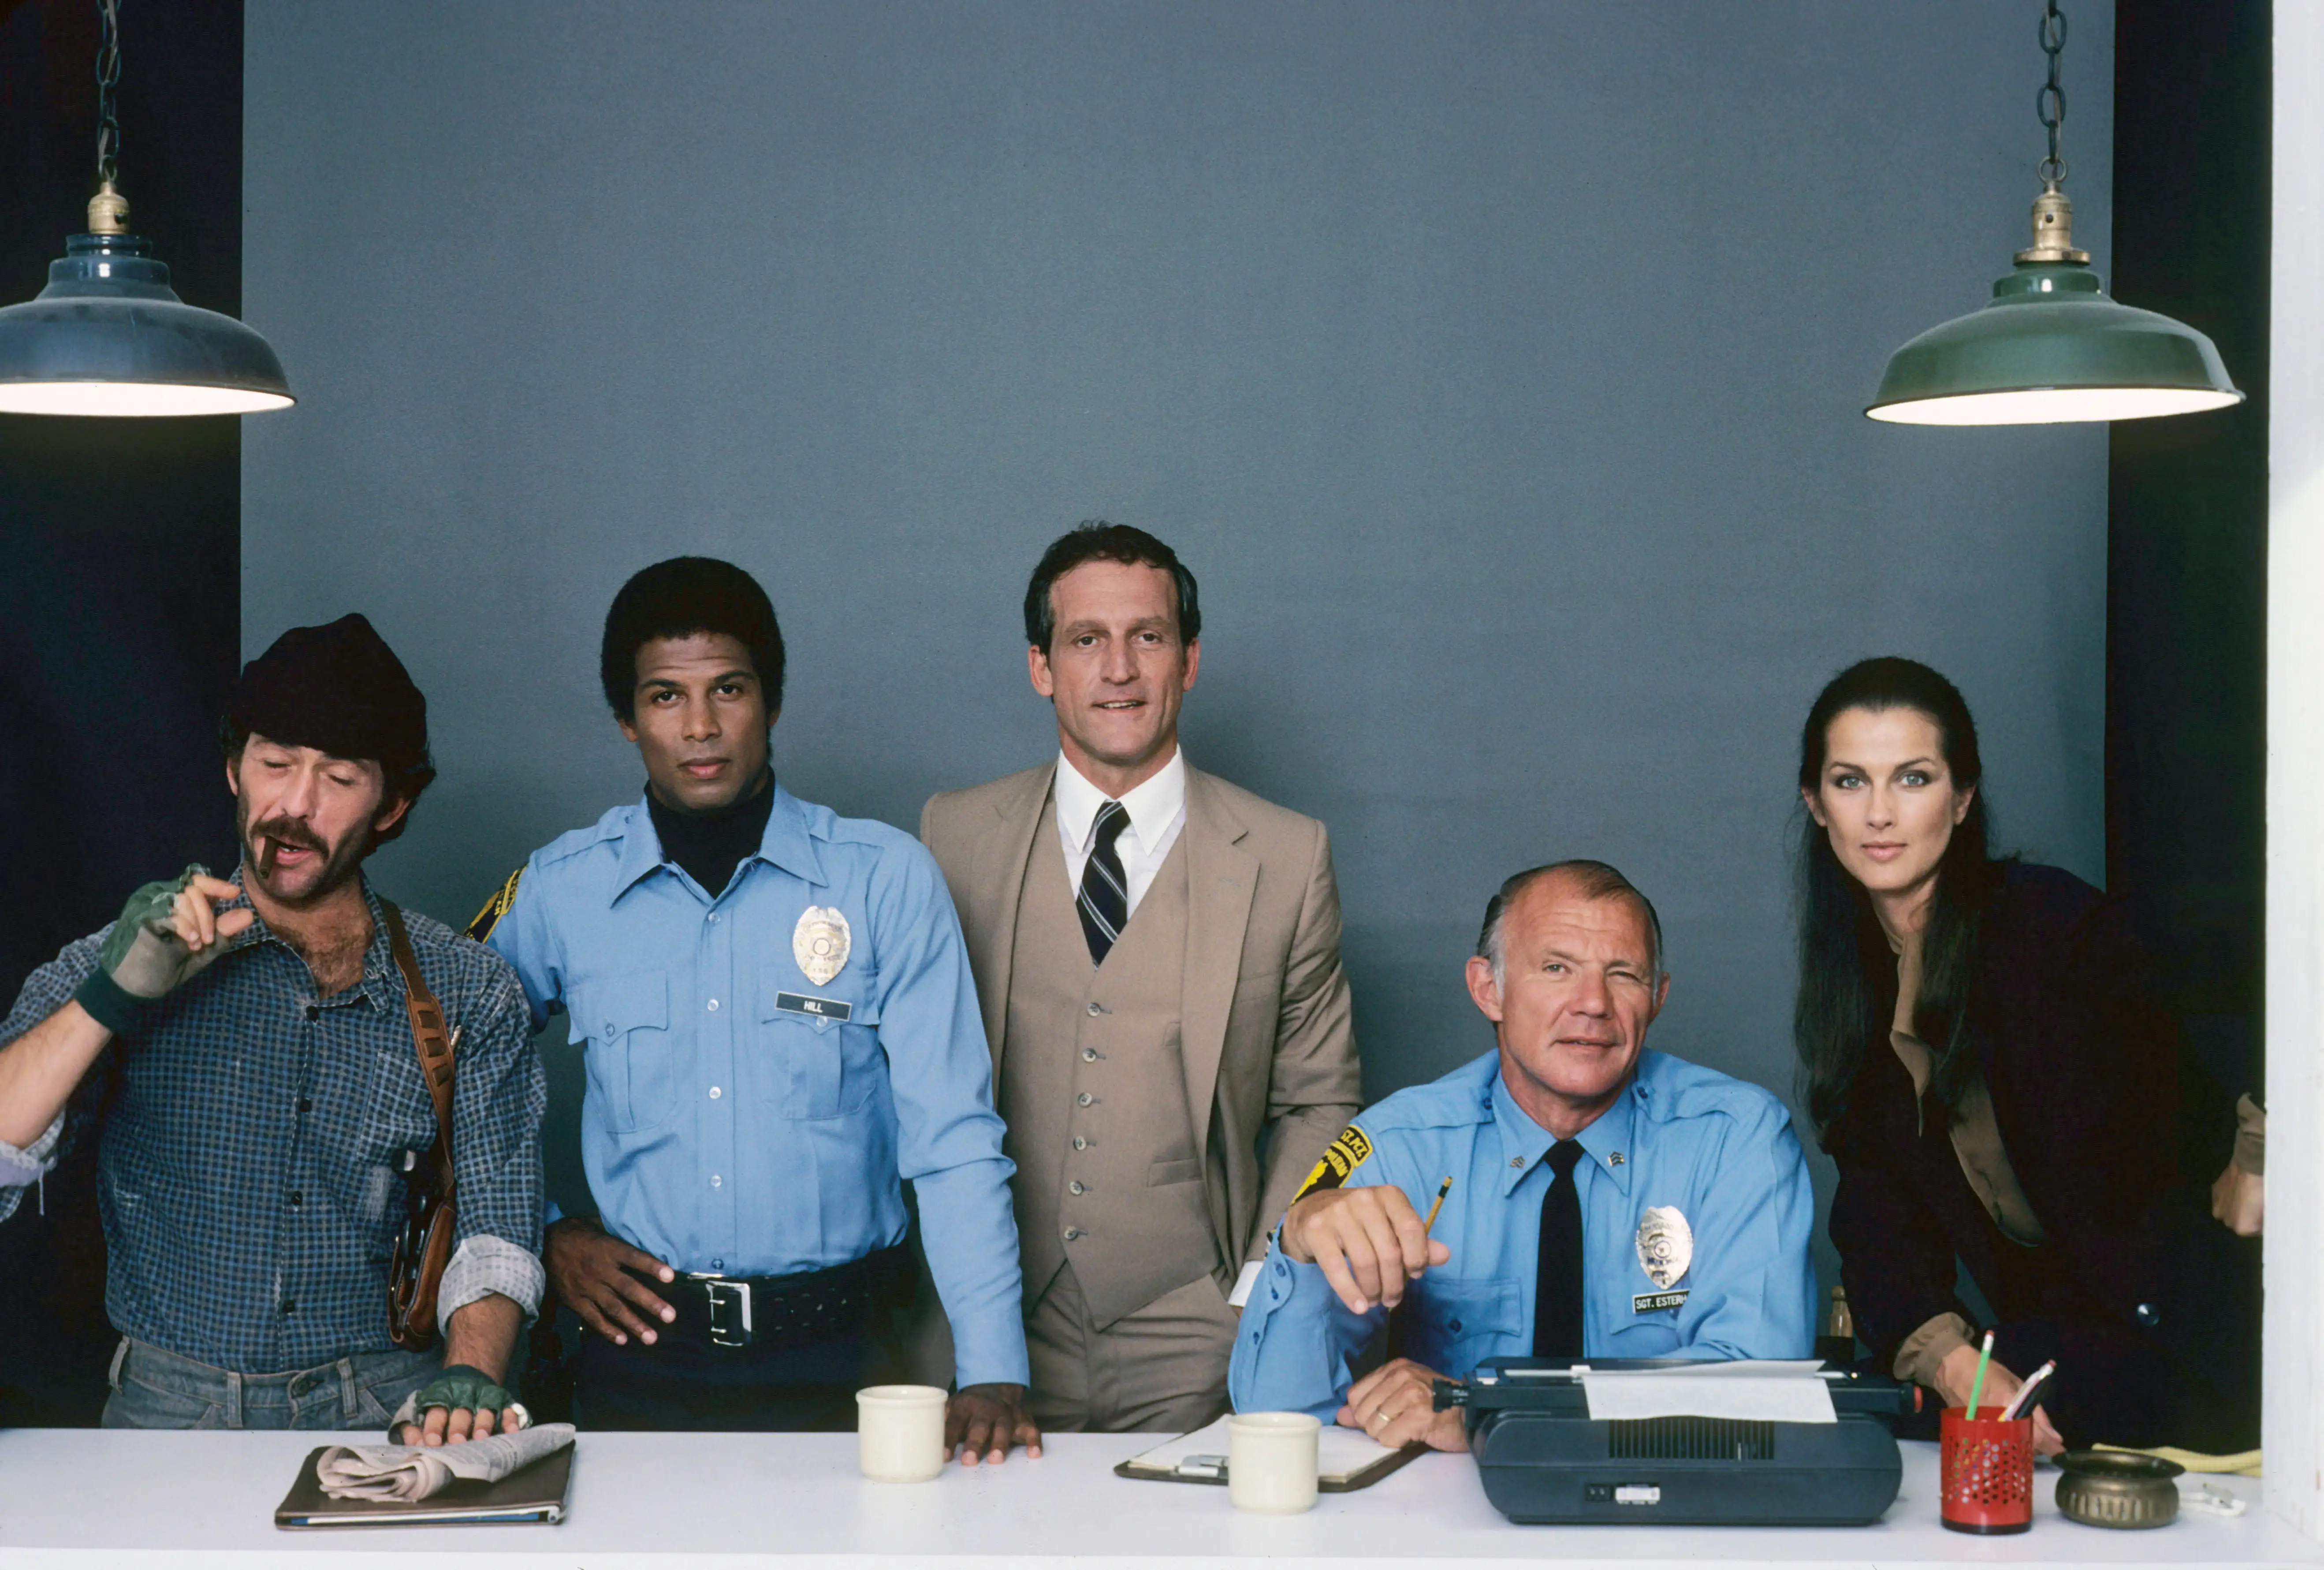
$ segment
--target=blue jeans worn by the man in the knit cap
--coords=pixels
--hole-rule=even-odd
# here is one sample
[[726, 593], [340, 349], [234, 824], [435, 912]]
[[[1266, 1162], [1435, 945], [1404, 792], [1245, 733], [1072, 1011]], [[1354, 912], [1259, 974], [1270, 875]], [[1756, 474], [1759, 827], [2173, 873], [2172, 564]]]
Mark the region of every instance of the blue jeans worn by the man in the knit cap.
[[242, 1375], [121, 1338], [107, 1428], [372, 1428], [442, 1370], [430, 1352], [358, 1352], [321, 1368]]

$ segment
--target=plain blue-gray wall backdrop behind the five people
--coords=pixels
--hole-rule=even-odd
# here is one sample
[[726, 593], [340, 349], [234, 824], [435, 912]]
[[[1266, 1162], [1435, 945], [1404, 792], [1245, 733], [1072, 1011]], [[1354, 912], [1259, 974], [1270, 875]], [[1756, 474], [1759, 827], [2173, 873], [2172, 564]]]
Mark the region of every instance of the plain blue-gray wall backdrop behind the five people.
[[[2103, 427], [1859, 416], [2024, 244], [2033, 28], [249, 0], [244, 311], [302, 402], [246, 423], [244, 641], [363, 608], [404, 655], [442, 783], [374, 871], [460, 920], [637, 794], [595, 685], [637, 567], [753, 569], [786, 783], [911, 827], [1053, 750], [1025, 571], [1136, 523], [1204, 585], [1188, 755], [1332, 827], [1371, 1094], [1490, 1045], [1462, 957], [1562, 855], [1662, 906], [1655, 1045], [1787, 1087], [1834, 669], [1952, 674], [2003, 836], [2103, 873]], [[2110, 84], [2080, 5], [2101, 267]]]

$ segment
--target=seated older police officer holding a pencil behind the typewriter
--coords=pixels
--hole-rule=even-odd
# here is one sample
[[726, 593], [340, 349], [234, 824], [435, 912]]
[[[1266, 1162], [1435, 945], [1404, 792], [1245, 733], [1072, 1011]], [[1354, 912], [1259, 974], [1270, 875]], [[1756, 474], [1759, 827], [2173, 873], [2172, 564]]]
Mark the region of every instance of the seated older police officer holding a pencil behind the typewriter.
[[[1469, 962], [1497, 1050], [1334, 1140], [1243, 1310], [1234, 1407], [1466, 1449], [1432, 1382], [1487, 1356], [1806, 1356], [1815, 1198], [1792, 1119], [1645, 1050], [1669, 987], [1655, 908], [1615, 869], [1504, 883]], [[1404, 1356], [1353, 1380], [1399, 1303]]]

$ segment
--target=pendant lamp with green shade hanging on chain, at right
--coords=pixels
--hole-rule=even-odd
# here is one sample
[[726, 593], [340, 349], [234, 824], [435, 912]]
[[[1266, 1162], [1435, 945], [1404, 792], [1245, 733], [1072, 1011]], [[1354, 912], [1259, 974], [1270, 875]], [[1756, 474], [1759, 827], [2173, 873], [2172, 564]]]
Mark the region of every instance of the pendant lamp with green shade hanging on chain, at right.
[[2089, 251], [2075, 249], [2073, 202], [2059, 188], [2066, 19], [2057, 0], [2043, 9], [2040, 46], [2050, 81], [2036, 114], [2050, 130], [2050, 156], [2040, 160], [2043, 193], [2033, 197], [2033, 244], [1994, 283], [1982, 311], [1929, 327], [1889, 355], [1864, 413], [1899, 425], [2052, 425], [2240, 404], [2243, 392], [2205, 334], [2108, 297], [2089, 269]]

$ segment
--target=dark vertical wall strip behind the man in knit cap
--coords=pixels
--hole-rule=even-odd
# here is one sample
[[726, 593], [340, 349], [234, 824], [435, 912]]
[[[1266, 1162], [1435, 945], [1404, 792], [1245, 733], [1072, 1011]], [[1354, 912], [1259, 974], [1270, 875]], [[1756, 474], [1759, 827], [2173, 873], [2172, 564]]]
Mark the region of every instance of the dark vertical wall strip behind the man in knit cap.
[[[95, 7], [0, 7], [0, 304], [95, 177]], [[242, 309], [242, 5], [130, 5], [121, 183], [177, 290]], [[235, 420], [0, 416], [0, 989], [186, 862], [232, 864]], [[0, 1226], [0, 1424], [95, 1421], [112, 1338], [88, 1152]], [[9, 1389], [16, 1396], [9, 1396]], [[16, 1405], [12, 1405], [12, 1400]]]

